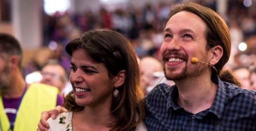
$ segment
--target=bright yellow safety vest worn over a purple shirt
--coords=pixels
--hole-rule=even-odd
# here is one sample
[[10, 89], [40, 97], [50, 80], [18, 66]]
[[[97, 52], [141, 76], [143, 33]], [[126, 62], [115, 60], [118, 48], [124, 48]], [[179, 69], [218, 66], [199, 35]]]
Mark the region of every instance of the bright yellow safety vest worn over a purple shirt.
[[[31, 84], [24, 94], [14, 124], [14, 131], [36, 131], [42, 111], [56, 107], [58, 89], [53, 86]], [[0, 124], [3, 131], [10, 127], [0, 96]], [[1, 129], [0, 129], [1, 130]]]

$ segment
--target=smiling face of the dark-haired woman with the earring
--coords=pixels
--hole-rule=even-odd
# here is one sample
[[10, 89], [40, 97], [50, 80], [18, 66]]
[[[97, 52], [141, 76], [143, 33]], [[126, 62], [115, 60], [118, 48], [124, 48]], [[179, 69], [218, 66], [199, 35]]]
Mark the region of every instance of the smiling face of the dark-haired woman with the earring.
[[79, 106], [111, 105], [114, 81], [103, 63], [95, 62], [84, 49], [77, 49], [72, 54], [71, 69], [69, 79]]

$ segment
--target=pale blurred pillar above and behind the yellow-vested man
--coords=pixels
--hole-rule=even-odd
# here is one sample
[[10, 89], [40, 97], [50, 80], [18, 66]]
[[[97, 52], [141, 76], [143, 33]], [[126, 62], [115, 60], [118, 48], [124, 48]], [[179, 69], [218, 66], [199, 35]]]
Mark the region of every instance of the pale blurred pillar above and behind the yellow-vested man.
[[12, 25], [24, 49], [37, 49], [42, 43], [42, 0], [12, 0]]

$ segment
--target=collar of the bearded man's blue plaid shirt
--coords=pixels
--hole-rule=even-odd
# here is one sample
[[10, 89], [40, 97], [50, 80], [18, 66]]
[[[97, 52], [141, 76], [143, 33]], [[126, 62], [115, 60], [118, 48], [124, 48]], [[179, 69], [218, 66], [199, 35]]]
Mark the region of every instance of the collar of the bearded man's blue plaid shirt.
[[[168, 100], [167, 100], [167, 105], [166, 105], [167, 110], [182, 109], [182, 107], [180, 107], [176, 102], [177, 97], [178, 97], [178, 88], [176, 85], [174, 85], [174, 86], [170, 87], [170, 91], [168, 94]], [[223, 111], [224, 111], [224, 107], [225, 107], [225, 101], [226, 101], [225, 84], [218, 77], [218, 87], [217, 87], [214, 101], [213, 101], [211, 107], [208, 109], [208, 111], [204, 115], [211, 112], [211, 113], [215, 114], [219, 119], [221, 119]]]

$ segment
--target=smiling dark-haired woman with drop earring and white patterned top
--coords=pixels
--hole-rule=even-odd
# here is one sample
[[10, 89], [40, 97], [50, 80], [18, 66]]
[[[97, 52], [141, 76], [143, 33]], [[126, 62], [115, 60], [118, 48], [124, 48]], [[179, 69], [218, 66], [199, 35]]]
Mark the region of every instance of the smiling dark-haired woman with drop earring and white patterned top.
[[48, 119], [51, 131], [145, 131], [144, 94], [137, 57], [125, 36], [111, 30], [85, 32], [66, 45], [73, 91], [69, 112]]

